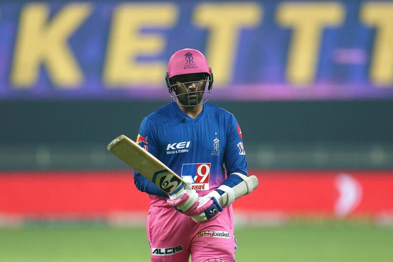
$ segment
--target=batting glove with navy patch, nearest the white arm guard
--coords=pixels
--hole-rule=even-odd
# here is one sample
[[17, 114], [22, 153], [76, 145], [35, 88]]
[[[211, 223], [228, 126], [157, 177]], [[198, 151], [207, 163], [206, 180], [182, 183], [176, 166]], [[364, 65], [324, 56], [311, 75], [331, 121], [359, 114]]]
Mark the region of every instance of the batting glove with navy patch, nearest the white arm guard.
[[204, 197], [199, 197], [197, 202], [197, 208], [193, 210], [190, 208], [188, 211], [184, 212], [184, 214], [190, 216], [196, 222], [206, 222], [216, 219], [223, 211], [223, 207], [219, 203], [219, 199], [216, 197], [220, 197], [220, 194], [213, 190], [209, 194]]

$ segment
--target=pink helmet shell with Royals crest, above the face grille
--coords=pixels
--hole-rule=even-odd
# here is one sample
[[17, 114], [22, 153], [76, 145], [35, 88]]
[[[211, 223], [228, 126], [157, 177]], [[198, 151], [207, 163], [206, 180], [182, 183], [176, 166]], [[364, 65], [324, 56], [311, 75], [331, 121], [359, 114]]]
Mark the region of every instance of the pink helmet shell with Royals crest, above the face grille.
[[211, 67], [202, 53], [196, 49], [185, 48], [175, 52], [168, 62], [168, 78], [177, 75], [206, 73], [210, 75]]

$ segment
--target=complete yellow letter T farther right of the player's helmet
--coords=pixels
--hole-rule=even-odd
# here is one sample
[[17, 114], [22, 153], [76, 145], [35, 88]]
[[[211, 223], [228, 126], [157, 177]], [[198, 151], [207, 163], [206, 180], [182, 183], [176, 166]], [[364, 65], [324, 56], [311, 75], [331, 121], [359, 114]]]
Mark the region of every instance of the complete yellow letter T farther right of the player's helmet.
[[302, 86], [314, 80], [322, 30], [341, 25], [344, 12], [337, 2], [285, 2], [280, 5], [278, 22], [293, 28], [286, 72], [289, 83]]

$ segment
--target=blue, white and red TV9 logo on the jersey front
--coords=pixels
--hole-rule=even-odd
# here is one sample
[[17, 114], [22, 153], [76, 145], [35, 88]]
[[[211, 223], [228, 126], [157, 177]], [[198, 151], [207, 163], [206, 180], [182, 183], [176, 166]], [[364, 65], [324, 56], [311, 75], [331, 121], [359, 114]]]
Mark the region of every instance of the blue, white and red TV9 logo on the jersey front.
[[183, 164], [181, 177], [188, 177], [189, 181], [192, 181], [192, 189], [208, 190], [210, 165], [210, 163]]

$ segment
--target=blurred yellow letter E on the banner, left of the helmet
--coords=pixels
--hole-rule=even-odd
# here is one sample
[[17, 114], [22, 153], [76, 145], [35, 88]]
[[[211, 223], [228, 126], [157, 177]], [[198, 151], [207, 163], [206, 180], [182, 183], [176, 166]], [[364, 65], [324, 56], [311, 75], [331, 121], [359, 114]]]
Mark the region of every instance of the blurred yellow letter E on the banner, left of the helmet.
[[[138, 87], [136, 84], [162, 86], [167, 63], [140, 62], [140, 55], [160, 53], [165, 40], [159, 35], [141, 34], [142, 28], [169, 28], [177, 19], [176, 6], [169, 3], [125, 3], [114, 11], [104, 70], [111, 88]], [[180, 35], [178, 37], [181, 37]]]

